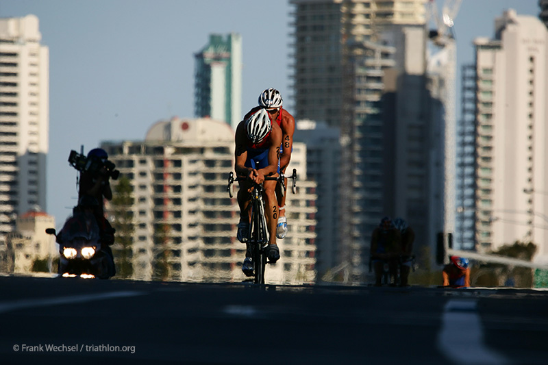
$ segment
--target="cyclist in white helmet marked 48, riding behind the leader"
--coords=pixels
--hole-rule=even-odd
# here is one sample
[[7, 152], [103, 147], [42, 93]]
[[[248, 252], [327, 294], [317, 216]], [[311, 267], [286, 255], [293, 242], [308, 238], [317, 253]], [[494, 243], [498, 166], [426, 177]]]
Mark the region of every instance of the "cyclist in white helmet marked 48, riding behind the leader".
[[[293, 149], [293, 134], [295, 133], [295, 118], [284, 108], [282, 108], [282, 95], [275, 88], [269, 88], [259, 95], [259, 106], [251, 109], [244, 117], [244, 121], [260, 109], [266, 109], [273, 121], [282, 128], [282, 148], [280, 149], [279, 171], [286, 173], [286, 168], [291, 160]], [[287, 186], [287, 178], [284, 179], [284, 185]], [[286, 218], [286, 194], [282, 194], [282, 185], [276, 186], [276, 198], [279, 207], [279, 218], [276, 227], [277, 238], [284, 238], [287, 235]]]

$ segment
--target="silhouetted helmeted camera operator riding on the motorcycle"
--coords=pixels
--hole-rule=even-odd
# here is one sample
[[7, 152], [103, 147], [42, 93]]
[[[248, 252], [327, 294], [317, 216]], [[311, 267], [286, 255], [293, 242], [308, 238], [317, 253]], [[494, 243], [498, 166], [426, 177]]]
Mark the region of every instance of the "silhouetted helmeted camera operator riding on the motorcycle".
[[82, 171], [79, 180], [78, 199], [84, 195], [94, 197], [99, 202], [96, 214], [104, 218], [103, 198], [109, 201], [112, 199], [109, 175], [104, 166], [104, 163], [108, 160], [108, 154], [104, 149], [92, 149], [88, 152], [89, 159], [101, 160], [103, 166], [97, 172]]

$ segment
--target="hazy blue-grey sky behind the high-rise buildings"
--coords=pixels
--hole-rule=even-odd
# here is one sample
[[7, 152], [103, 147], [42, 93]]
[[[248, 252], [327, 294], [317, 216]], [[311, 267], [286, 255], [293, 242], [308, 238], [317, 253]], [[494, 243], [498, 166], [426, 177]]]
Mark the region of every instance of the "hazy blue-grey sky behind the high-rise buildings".
[[[473, 62], [473, 38], [493, 37], [495, 17], [508, 8], [540, 12], [537, 0], [462, 0], [458, 64]], [[46, 210], [56, 225], [76, 203], [71, 149], [142, 140], [156, 121], [194, 115], [193, 55], [209, 34], [242, 35], [242, 113], [269, 87], [291, 105], [291, 10], [285, 0], [0, 0], [1, 18], [38, 16], [49, 47]]]

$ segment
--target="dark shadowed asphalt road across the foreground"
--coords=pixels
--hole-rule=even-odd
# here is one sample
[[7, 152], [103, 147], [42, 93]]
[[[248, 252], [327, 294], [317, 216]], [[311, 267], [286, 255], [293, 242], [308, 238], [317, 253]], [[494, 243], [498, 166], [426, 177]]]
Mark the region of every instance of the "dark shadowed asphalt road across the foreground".
[[0, 364], [548, 364], [548, 292], [0, 277]]

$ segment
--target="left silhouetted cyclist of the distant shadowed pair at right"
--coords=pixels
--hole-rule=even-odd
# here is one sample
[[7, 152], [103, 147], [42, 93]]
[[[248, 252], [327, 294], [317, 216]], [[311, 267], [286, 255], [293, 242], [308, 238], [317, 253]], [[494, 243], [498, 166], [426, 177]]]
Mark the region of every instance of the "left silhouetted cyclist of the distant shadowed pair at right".
[[379, 227], [373, 229], [371, 234], [371, 259], [375, 270], [375, 286], [382, 285], [382, 271], [384, 262], [390, 267], [390, 277], [395, 277], [397, 259], [401, 244], [401, 234], [388, 216], [382, 218]]

